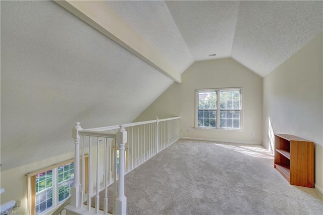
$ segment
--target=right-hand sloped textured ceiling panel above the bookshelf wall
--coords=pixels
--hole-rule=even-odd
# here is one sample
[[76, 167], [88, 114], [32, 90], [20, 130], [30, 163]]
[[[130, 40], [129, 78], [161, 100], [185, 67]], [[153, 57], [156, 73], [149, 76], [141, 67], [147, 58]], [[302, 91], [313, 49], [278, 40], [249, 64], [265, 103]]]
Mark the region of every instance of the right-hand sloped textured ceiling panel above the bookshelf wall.
[[323, 2], [241, 2], [231, 57], [264, 77], [323, 31]]

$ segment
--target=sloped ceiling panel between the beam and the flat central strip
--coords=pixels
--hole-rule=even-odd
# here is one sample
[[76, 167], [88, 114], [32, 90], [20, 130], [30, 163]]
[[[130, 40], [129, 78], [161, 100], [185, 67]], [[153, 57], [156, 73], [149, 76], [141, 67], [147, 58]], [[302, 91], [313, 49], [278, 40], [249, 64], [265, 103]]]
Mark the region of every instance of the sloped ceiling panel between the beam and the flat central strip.
[[170, 11], [163, 1], [105, 1], [181, 73], [194, 63]]

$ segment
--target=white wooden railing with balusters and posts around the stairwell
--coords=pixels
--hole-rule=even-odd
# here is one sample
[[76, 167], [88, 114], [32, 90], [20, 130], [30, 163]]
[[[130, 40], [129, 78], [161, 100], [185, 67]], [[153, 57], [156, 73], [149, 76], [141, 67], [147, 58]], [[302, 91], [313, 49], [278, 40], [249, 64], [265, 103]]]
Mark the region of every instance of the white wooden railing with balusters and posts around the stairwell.
[[[107, 187], [114, 183], [113, 214], [126, 214], [125, 174], [177, 141], [179, 139], [179, 120], [180, 117], [161, 120], [156, 118], [152, 121], [92, 129], [82, 129], [80, 123], [76, 123], [72, 136], [75, 144], [75, 158], [80, 157], [81, 149], [81, 161], [75, 159], [72, 203], [66, 208], [72, 211], [72, 214], [73, 210], [75, 214], [89, 214], [90, 210], [91, 214], [102, 214], [102, 212], [108, 214]], [[101, 142], [102, 140], [103, 142]], [[86, 144], [87, 142], [88, 144]], [[100, 145], [102, 146], [102, 144], [103, 162], [100, 159], [100, 150], [102, 150]], [[94, 146], [97, 147], [96, 153], [95, 150], [93, 151]], [[85, 163], [84, 159], [85, 150], [88, 150], [89, 154], [88, 163]], [[117, 171], [117, 150], [119, 150], [119, 171]], [[85, 175], [86, 165], [88, 176]], [[92, 166], [96, 169], [95, 175]], [[93, 176], [96, 181], [95, 192], [93, 191]], [[87, 183], [85, 182], [86, 177]], [[117, 180], [119, 181], [118, 189]], [[87, 190], [85, 190], [86, 187]], [[104, 189], [103, 211], [99, 210], [101, 189]], [[95, 196], [94, 208], [91, 207], [93, 196]], [[83, 204], [85, 199], [87, 199], [86, 207]]]

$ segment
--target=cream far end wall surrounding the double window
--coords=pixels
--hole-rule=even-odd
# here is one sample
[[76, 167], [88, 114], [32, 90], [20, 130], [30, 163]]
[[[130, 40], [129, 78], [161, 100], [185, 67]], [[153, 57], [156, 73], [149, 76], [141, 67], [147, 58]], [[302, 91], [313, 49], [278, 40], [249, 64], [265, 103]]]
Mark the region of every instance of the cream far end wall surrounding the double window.
[[[243, 130], [195, 130], [195, 90], [225, 87], [243, 87]], [[196, 62], [182, 74], [181, 84], [171, 85], [135, 122], [156, 116], [181, 116], [181, 137], [261, 144], [262, 78], [230, 58]]]

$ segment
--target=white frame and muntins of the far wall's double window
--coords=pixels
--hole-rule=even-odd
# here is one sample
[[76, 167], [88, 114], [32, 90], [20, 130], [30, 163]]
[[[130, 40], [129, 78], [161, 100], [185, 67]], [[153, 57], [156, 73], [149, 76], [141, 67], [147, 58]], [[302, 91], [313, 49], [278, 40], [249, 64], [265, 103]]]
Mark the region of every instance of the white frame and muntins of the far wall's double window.
[[[220, 128], [220, 92], [221, 91], [240, 91], [240, 128]], [[242, 102], [242, 87], [233, 87], [233, 88], [214, 88], [214, 89], [197, 89], [195, 90], [195, 129], [211, 129], [211, 130], [235, 130], [235, 131], [241, 131], [242, 130], [242, 116], [243, 116], [243, 102]], [[217, 120], [216, 120], [216, 127], [202, 127], [198, 126], [198, 105], [199, 105], [199, 94], [200, 92], [217, 92]], [[230, 109], [231, 110], [231, 109]], [[238, 109], [237, 109], [238, 110]], [[236, 109], [232, 109], [231, 111], [236, 111]]]

